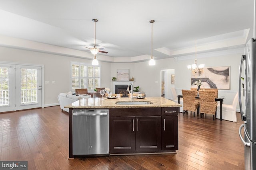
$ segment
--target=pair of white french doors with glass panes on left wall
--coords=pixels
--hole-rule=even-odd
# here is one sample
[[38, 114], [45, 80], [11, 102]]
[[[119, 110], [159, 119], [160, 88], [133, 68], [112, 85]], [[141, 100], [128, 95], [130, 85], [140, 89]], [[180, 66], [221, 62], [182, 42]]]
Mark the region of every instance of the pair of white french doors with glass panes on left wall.
[[42, 107], [41, 66], [0, 64], [0, 112]]

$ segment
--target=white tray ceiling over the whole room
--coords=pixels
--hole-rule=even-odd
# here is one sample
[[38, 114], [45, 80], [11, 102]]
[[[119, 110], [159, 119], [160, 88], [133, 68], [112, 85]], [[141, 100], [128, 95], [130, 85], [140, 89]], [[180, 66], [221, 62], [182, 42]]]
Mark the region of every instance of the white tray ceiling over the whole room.
[[[156, 60], [242, 47], [253, 33], [253, 0], [0, 0], [0, 35], [54, 45], [102, 61]], [[17, 39], [12, 39], [17, 41]], [[6, 44], [5, 44], [6, 43]], [[12, 46], [1, 42], [1, 46]], [[20, 43], [22, 44], [22, 43]], [[19, 48], [18, 44], [13, 45]], [[21, 45], [20, 45], [21, 46]], [[33, 50], [31, 47], [26, 49]], [[35, 50], [36, 48], [34, 48]], [[40, 51], [40, 47], [37, 47]], [[62, 50], [65, 51], [65, 50]], [[65, 53], [65, 52], [62, 52]]]

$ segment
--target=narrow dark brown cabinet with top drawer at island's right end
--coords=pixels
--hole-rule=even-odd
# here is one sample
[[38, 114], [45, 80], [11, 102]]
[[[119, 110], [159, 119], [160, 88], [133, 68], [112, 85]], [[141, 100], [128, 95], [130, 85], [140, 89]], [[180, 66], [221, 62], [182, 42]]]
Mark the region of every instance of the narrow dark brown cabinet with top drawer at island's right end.
[[178, 150], [178, 109], [162, 107], [162, 150]]

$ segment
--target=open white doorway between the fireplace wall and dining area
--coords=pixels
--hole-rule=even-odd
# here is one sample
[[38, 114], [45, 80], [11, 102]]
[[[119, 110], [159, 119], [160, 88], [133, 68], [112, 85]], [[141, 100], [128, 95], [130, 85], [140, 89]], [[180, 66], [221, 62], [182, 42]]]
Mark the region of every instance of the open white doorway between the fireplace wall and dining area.
[[161, 70], [161, 96], [163, 98], [172, 100], [172, 91], [171, 88], [174, 88], [172, 84], [172, 75], [174, 75], [174, 69]]

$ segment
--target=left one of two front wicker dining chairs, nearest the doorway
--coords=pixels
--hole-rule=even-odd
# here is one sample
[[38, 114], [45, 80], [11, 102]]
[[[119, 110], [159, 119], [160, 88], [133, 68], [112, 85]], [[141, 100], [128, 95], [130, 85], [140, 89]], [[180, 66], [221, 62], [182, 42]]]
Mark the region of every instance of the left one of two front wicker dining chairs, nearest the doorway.
[[193, 111], [195, 117], [195, 111], [199, 113], [199, 103], [196, 102], [195, 90], [182, 90], [183, 96], [183, 115], [185, 111]]

